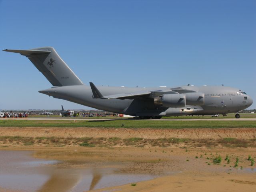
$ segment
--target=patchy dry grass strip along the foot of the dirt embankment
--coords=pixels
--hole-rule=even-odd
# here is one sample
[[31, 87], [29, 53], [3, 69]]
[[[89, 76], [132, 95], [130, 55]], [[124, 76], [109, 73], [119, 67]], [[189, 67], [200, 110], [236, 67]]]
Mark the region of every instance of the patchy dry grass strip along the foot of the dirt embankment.
[[[256, 147], [256, 140], [254, 139], [236, 139], [236, 138], [222, 138], [222, 139], [189, 139], [189, 138], [159, 138], [159, 139], [146, 139], [146, 138], [63, 138], [63, 137], [21, 137], [21, 136], [0, 136], [0, 147], [6, 146], [6, 144], [24, 145], [24, 146], [83, 146], [83, 147], [108, 147], [108, 146], [179, 146], [183, 147], [209, 147], [225, 146], [228, 148], [247, 148]], [[186, 150], [187, 151], [187, 150]], [[201, 156], [200, 156], [201, 157]], [[228, 160], [228, 156], [225, 160]], [[220, 163], [221, 158], [218, 157], [214, 160], [214, 163]]]

